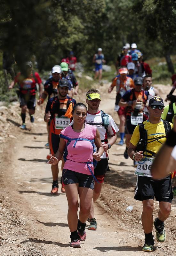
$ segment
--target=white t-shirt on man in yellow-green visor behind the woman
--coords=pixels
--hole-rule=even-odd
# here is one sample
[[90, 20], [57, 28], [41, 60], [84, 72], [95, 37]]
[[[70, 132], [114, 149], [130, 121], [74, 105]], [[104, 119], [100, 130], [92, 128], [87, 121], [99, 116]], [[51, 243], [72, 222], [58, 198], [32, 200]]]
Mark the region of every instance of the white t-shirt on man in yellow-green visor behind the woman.
[[[108, 125], [108, 134], [109, 135], [114, 135], [116, 134], [116, 132], [119, 131], [116, 123], [114, 122], [114, 120], [112, 119], [112, 116], [109, 116], [109, 125]], [[99, 111], [96, 114], [90, 114], [89, 112], [87, 112], [87, 116], [85, 119], [85, 123], [86, 124], [90, 124], [90, 125], [94, 125], [97, 127], [98, 131], [100, 132], [100, 140], [107, 140], [108, 139], [108, 134], [106, 132], [105, 127], [103, 126], [102, 123], [102, 118], [101, 118], [101, 111]], [[69, 125], [73, 124], [73, 120]], [[102, 142], [102, 143], [108, 143], [107, 141]], [[96, 149], [96, 148], [95, 148]], [[101, 158], [107, 158], [108, 154], [106, 154], [106, 152], [103, 152], [103, 155], [101, 156]]]

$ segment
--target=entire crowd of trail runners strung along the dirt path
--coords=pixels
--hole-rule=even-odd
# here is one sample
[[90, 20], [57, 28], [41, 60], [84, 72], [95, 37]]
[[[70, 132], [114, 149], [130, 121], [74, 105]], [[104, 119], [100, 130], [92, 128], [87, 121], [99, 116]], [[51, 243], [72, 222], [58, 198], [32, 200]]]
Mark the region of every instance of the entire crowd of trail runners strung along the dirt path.
[[[102, 48], [93, 56], [94, 79], [102, 85], [102, 70], [105, 63]], [[79, 93], [75, 77], [76, 57], [73, 52], [52, 68], [52, 73], [44, 83], [32, 69], [32, 62], [24, 64], [23, 70], [15, 76], [9, 88], [18, 83], [21, 107], [21, 129], [26, 129], [25, 118], [28, 108], [30, 121], [34, 122], [36, 107], [36, 84], [39, 86], [41, 105], [47, 98], [44, 121], [47, 124], [50, 152], [48, 164], [52, 169], [51, 194], [58, 194], [58, 163], [61, 160], [61, 192], [68, 201], [68, 226], [71, 232], [71, 246], [80, 247], [85, 241], [86, 221], [88, 230], [97, 230], [94, 203], [99, 198], [105, 175], [109, 170], [108, 152], [116, 143], [126, 144], [124, 158], [133, 160], [137, 175], [134, 198], [142, 201], [142, 226], [145, 242], [142, 250], [152, 252], [154, 238], [164, 242], [166, 233], [164, 221], [171, 211], [173, 195], [176, 196], [176, 75], [172, 76], [172, 90], [164, 107], [159, 92], [152, 86], [152, 70], [143, 61], [143, 54], [133, 43], [125, 44], [116, 60], [116, 76], [107, 92], [116, 87], [115, 111], [120, 120], [119, 129], [113, 118], [100, 110], [101, 92], [92, 88], [85, 95], [83, 103], [73, 98]], [[84, 97], [83, 97], [84, 98]], [[125, 138], [125, 142], [124, 142]], [[111, 149], [112, 150], [112, 149]], [[174, 184], [172, 190], [172, 183]], [[79, 204], [78, 204], [79, 195]], [[159, 212], [153, 222], [154, 197], [159, 202]], [[78, 218], [79, 207], [79, 218]]]

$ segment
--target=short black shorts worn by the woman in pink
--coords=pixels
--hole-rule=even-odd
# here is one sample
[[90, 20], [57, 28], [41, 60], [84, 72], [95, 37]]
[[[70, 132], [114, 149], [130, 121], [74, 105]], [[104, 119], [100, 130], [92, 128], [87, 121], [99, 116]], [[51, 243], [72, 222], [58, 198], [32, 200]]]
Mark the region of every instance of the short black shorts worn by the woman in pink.
[[91, 188], [94, 190], [94, 179], [92, 175], [63, 169], [62, 182], [64, 185], [78, 183], [79, 187]]

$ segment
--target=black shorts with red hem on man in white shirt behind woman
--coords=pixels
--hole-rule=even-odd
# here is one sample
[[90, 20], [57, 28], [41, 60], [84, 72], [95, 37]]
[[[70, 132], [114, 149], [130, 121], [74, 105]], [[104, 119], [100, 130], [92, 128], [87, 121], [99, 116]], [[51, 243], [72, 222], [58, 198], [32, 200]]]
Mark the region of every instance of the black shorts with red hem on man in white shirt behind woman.
[[94, 168], [94, 175], [100, 183], [104, 181], [107, 171], [110, 171], [108, 166], [108, 158], [102, 158], [97, 162], [97, 166]]

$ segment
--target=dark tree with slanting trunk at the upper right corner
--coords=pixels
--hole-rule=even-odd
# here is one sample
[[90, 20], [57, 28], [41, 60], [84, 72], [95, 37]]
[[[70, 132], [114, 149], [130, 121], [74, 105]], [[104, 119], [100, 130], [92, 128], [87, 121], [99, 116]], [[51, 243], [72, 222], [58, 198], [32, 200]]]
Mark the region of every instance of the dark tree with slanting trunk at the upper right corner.
[[146, 32], [146, 40], [161, 45], [168, 70], [173, 74], [174, 67], [170, 54], [173, 53], [176, 43], [176, 1], [136, 0], [133, 11], [139, 13]]

